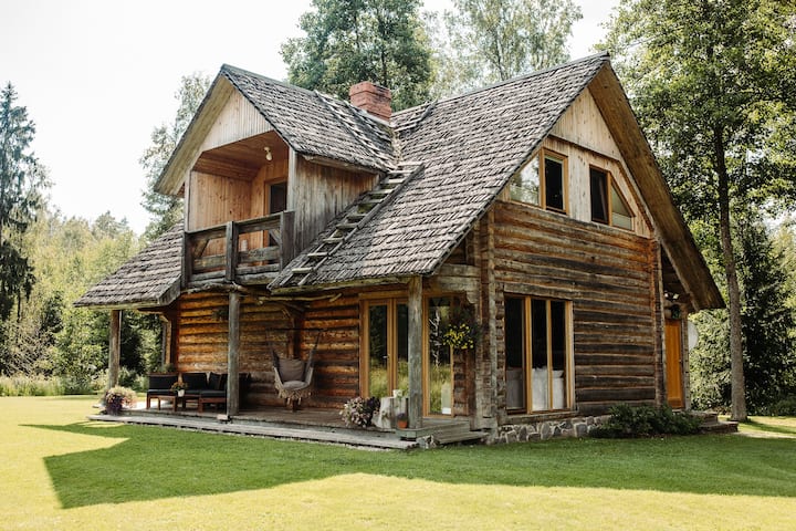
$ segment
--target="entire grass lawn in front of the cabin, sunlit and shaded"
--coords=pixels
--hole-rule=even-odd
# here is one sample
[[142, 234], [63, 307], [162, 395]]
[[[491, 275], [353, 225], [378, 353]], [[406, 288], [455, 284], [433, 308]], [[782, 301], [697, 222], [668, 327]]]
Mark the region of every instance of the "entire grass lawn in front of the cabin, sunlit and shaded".
[[796, 419], [744, 435], [365, 451], [0, 398], [0, 530], [794, 529]]

